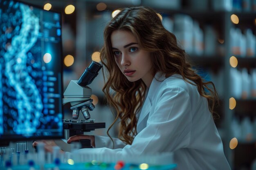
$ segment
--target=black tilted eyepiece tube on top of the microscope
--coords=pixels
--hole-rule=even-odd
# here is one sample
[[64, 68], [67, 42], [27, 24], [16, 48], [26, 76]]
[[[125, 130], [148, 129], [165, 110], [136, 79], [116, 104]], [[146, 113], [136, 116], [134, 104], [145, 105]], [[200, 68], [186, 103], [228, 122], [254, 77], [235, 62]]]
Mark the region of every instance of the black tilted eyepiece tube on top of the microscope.
[[85, 68], [85, 71], [78, 79], [77, 84], [79, 84], [80, 86], [87, 86], [91, 84], [94, 78], [98, 75], [98, 72], [101, 68], [102, 68], [101, 64], [99, 64], [98, 62], [92, 61], [90, 66]]

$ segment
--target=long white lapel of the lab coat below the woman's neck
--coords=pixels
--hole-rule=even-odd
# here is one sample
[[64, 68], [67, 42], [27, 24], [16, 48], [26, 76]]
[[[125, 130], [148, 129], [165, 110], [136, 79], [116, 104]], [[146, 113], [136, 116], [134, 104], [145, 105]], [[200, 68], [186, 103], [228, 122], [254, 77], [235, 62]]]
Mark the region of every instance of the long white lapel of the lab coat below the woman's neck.
[[146, 121], [147, 121], [146, 117], [148, 117], [148, 114], [150, 113], [150, 110], [152, 108], [152, 101], [155, 98], [158, 88], [164, 79], [165, 77], [160, 73], [157, 73], [153, 78], [148, 90], [148, 95], [141, 108], [141, 113], [139, 115], [139, 120], [137, 123], [137, 132], [140, 132], [143, 128], [146, 127]]

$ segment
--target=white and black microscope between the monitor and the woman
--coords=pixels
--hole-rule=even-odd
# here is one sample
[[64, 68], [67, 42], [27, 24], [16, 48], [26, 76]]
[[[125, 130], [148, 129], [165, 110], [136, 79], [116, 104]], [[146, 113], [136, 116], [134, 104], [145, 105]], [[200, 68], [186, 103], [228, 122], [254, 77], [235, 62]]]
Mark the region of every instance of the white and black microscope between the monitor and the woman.
[[[99, 70], [102, 68], [101, 64], [92, 61], [81, 77], [76, 80], [71, 80], [64, 92], [64, 98], [62, 104], [70, 103], [72, 110], [72, 119], [63, 119], [63, 129], [65, 139], [63, 142], [55, 140], [56, 144], [61, 147], [62, 150], [70, 151], [67, 139], [74, 135], [81, 135], [84, 132], [90, 132], [97, 128], [105, 128], [105, 122], [94, 122], [90, 119], [89, 110], [92, 111], [95, 106], [91, 99], [92, 89], [87, 85], [91, 84], [94, 78], [98, 75]], [[83, 114], [84, 119], [76, 121], [79, 117], [79, 113]], [[79, 140], [82, 148], [92, 148], [90, 139]]]

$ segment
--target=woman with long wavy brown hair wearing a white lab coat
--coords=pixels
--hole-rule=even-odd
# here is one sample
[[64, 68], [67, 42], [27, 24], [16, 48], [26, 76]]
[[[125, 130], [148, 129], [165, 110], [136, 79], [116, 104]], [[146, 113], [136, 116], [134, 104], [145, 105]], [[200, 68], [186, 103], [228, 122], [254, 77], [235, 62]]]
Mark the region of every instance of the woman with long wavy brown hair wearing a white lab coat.
[[186, 62], [155, 11], [121, 9], [104, 31], [101, 62], [108, 72], [103, 92], [121, 121], [119, 139], [77, 135], [69, 143], [91, 139], [95, 148], [81, 152], [106, 155], [173, 152], [178, 170], [230, 169], [213, 121], [214, 85]]

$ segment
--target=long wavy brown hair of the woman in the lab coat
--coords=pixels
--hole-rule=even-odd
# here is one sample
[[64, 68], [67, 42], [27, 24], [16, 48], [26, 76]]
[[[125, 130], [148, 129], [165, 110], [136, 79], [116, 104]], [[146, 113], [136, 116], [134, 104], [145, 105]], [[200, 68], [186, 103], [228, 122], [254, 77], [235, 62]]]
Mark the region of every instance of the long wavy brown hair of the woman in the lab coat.
[[[157, 13], [148, 7], [119, 10], [105, 28], [104, 45], [101, 49], [101, 62], [108, 73], [107, 77], [104, 76], [106, 84], [103, 92], [108, 104], [117, 114], [115, 121], [108, 128], [108, 136], [110, 137], [110, 128], [120, 119], [119, 139], [132, 144], [137, 135], [136, 113], [141, 108], [146, 92], [146, 84], [141, 79], [129, 82], [115, 62], [110, 38], [116, 30], [130, 31], [137, 38], [140, 48], [153, 54], [153, 75], [157, 72], [165, 74], [166, 77], [180, 74], [186, 82], [198, 86], [199, 94], [207, 98], [209, 110], [214, 116], [213, 108], [218, 101], [214, 84], [205, 82], [192, 69], [185, 59], [185, 51], [177, 45], [175, 35], [164, 28]], [[210, 93], [207, 94], [206, 91]]]

